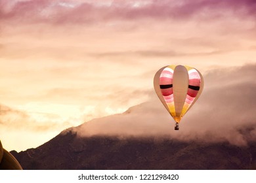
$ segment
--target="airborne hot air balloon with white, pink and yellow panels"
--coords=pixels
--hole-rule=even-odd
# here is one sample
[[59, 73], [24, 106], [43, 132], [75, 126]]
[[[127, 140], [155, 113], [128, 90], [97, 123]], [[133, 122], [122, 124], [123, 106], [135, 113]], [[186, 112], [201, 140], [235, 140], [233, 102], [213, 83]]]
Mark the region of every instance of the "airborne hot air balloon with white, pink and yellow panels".
[[162, 67], [154, 76], [154, 88], [175, 120], [175, 130], [179, 130], [182, 117], [203, 91], [203, 76], [194, 67], [169, 65]]

